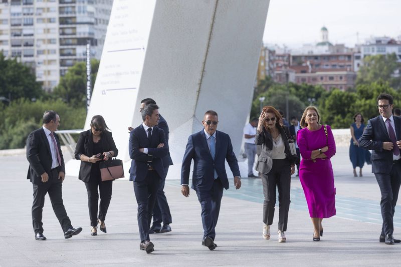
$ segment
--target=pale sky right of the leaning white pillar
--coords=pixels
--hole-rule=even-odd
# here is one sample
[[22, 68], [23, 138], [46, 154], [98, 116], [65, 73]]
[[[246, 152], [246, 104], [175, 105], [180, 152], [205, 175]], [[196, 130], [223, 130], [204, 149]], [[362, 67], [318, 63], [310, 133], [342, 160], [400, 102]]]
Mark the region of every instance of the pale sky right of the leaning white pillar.
[[320, 41], [354, 47], [371, 36], [401, 38], [401, 0], [270, 0], [263, 42], [300, 48]]

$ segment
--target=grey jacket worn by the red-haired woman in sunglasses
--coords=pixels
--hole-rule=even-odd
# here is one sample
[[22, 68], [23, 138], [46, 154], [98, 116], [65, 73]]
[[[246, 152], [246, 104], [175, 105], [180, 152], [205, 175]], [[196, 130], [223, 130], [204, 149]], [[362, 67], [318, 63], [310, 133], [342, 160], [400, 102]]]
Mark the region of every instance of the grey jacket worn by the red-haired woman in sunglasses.
[[[279, 129], [281, 138], [284, 141], [284, 152], [286, 154], [286, 159], [292, 164], [294, 163], [294, 157], [291, 157], [290, 145], [288, 144], [288, 138], [291, 138], [290, 131], [286, 126]], [[255, 170], [267, 174], [273, 166], [273, 160], [271, 157], [273, 149], [273, 138], [272, 135], [263, 127], [261, 133], [256, 132], [255, 143], [257, 145], [262, 145], [262, 152], [258, 157], [256, 162]]]

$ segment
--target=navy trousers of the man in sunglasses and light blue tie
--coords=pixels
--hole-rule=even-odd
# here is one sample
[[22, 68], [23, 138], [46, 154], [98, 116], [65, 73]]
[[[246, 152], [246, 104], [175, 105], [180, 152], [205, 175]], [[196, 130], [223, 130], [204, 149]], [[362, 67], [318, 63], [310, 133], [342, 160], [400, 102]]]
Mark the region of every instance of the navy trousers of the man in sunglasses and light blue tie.
[[196, 191], [197, 198], [200, 203], [202, 211], [202, 225], [204, 228], [204, 239], [206, 236], [215, 240], [216, 225], [219, 219], [220, 205], [223, 197], [223, 184], [222, 181], [215, 179], [212, 189], [210, 191]]

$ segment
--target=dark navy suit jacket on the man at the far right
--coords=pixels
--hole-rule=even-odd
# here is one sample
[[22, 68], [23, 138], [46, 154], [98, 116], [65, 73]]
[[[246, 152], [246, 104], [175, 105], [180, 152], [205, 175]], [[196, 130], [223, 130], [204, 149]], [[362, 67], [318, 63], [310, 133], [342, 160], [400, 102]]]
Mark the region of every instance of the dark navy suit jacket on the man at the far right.
[[[394, 119], [395, 135], [401, 140], [401, 118]], [[367, 122], [367, 126], [359, 138], [359, 147], [372, 150], [372, 172], [389, 174], [392, 169], [392, 151], [383, 149], [383, 142], [391, 142], [383, 118], [379, 115]]]

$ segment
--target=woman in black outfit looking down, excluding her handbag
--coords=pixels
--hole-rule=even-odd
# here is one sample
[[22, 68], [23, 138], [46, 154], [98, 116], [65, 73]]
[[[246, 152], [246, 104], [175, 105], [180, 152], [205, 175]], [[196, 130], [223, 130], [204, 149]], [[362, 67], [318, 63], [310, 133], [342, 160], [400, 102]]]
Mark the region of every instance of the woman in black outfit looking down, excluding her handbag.
[[91, 128], [79, 135], [77, 146], [75, 147], [75, 158], [81, 160], [78, 178], [85, 182], [88, 192], [91, 235], [97, 235], [98, 223], [100, 224], [100, 230], [107, 232], [104, 220], [110, 205], [113, 181], [102, 181], [99, 162], [107, 161], [118, 154], [113, 136], [109, 130], [104, 118], [101, 115], [95, 115], [91, 120]]

